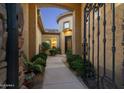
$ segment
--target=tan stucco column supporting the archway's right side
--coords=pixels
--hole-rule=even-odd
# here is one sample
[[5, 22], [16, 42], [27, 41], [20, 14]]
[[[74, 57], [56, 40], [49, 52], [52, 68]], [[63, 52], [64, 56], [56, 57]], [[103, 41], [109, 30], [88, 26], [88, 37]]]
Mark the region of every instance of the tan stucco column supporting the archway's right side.
[[81, 55], [81, 7], [73, 11], [72, 46], [73, 54]]

